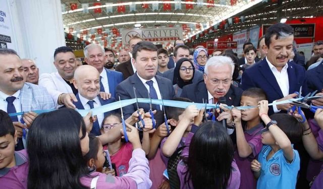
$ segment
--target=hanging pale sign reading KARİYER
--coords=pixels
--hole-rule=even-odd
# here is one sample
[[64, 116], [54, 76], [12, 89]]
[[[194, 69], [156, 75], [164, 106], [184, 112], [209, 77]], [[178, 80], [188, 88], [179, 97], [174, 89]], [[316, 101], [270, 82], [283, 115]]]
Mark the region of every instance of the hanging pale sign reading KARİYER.
[[133, 36], [140, 36], [145, 41], [166, 42], [183, 39], [183, 29], [182, 27], [123, 29], [121, 35], [123, 44], [128, 44]]

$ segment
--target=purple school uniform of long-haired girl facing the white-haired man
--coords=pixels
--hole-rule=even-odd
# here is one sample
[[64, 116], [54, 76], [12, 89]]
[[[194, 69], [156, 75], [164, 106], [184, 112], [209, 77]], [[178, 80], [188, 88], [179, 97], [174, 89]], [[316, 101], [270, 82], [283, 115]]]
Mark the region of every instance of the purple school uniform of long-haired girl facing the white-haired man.
[[[196, 127], [196, 126], [194, 126]], [[192, 126], [192, 130], [195, 130]], [[193, 133], [189, 133], [187, 138], [186, 138], [186, 142], [185, 142], [185, 146], [188, 146], [186, 148], [184, 148], [184, 150], [182, 151], [182, 157], [188, 157], [189, 154], [189, 145], [191, 143], [192, 137], [194, 136]], [[239, 188], [240, 185], [240, 171], [239, 168], [237, 166], [237, 164], [235, 163], [235, 160], [232, 161], [231, 164], [231, 175], [229, 178], [229, 183], [228, 183], [228, 189], [237, 189]], [[192, 181], [190, 180], [189, 183], [185, 182], [185, 172], [186, 172], [186, 165], [185, 163], [181, 160], [178, 165], [177, 165], [177, 174], [180, 178], [180, 182], [181, 182], [181, 189], [185, 189], [185, 188], [189, 188], [188, 184], [190, 184], [191, 188], [193, 188], [193, 184]]]

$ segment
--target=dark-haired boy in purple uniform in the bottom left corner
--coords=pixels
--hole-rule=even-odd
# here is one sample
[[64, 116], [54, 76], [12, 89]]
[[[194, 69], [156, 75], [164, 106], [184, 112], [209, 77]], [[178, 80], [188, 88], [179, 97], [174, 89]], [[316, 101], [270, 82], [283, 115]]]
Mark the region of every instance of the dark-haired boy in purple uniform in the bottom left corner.
[[8, 113], [0, 110], [0, 183], [1, 188], [27, 188], [26, 150], [15, 152], [17, 132]]

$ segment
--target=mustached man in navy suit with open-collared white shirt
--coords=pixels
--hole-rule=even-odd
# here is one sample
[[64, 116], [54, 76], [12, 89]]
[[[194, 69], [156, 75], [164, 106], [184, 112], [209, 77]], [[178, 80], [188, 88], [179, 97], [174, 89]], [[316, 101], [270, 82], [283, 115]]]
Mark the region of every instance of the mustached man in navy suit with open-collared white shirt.
[[[306, 95], [305, 69], [288, 62], [293, 50], [293, 28], [287, 24], [274, 24], [265, 34], [264, 50], [267, 56], [259, 64], [246, 69], [242, 75], [242, 89], [258, 87], [265, 91], [269, 102], [279, 102], [297, 96], [295, 91]], [[291, 104], [273, 105], [269, 113], [287, 111]]]

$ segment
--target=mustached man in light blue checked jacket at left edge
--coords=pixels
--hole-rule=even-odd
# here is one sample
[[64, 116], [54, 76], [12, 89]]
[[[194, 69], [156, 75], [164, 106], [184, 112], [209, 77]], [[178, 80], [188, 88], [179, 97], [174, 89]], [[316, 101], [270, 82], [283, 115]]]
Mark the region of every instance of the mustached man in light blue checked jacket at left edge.
[[11, 117], [19, 138], [16, 150], [24, 149], [27, 131], [23, 130], [29, 128], [37, 116], [32, 111], [55, 109], [45, 88], [26, 83], [20, 57], [7, 48], [0, 48], [0, 109], [7, 113], [26, 112], [23, 116]]

